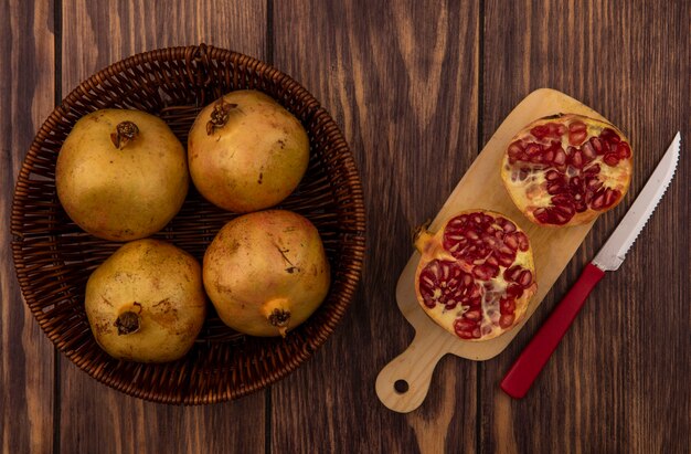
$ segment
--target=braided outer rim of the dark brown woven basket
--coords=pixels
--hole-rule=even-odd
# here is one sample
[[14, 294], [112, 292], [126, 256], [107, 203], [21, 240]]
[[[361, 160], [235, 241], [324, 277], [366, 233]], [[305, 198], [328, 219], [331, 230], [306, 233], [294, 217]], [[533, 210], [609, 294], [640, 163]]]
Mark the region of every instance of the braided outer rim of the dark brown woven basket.
[[[25, 184], [32, 171], [33, 162], [32, 160], [36, 159], [42, 144], [50, 136], [51, 130], [57, 125], [62, 118], [66, 116], [70, 110], [70, 104], [76, 104], [79, 101], [79, 94], [87, 93], [89, 87], [99, 86], [100, 80], [106, 78], [106, 76], [110, 76], [114, 74], [120, 74], [126, 70], [130, 70], [135, 66], [141, 65], [141, 63], [151, 61], [151, 60], [163, 60], [163, 61], [179, 61], [181, 57], [184, 57], [187, 63], [189, 64], [194, 59], [211, 59], [211, 60], [231, 60], [237, 59], [243, 62], [246, 62], [256, 71], [266, 72], [269, 74], [269, 77], [277, 83], [283, 84], [291, 84], [297, 89], [299, 89], [310, 102], [310, 108], [313, 108], [313, 112], [323, 113], [327, 117], [326, 127], [328, 127], [329, 131], [327, 133], [329, 140], [340, 139], [342, 142], [342, 147], [346, 148], [344, 162], [346, 172], [348, 177], [350, 177], [350, 183], [348, 184], [349, 197], [352, 199], [353, 204], [353, 214], [355, 218], [357, 225], [357, 234], [352, 235], [354, 244], [350, 245], [350, 249], [361, 251], [362, 254], [358, 256], [354, 255], [354, 258], [351, 261], [352, 264], [346, 268], [346, 272], [349, 277], [349, 285], [343, 288], [338, 297], [336, 298], [336, 304], [333, 306], [333, 312], [331, 316], [326, 320], [325, 324], [320, 326], [320, 336], [316, 339], [308, 339], [308, 341], [304, 345], [304, 347], [297, 352], [297, 355], [289, 358], [285, 361], [279, 368], [273, 371], [268, 377], [262, 377], [261, 380], [255, 381], [251, 386], [243, 387], [238, 390], [233, 390], [234, 392], [227, 393], [226, 395], [220, 395], [216, 392], [206, 392], [201, 399], [193, 397], [192, 400], [169, 400], [166, 399], [166, 395], [157, 394], [156, 392], [145, 391], [139, 388], [134, 390], [125, 389], [125, 386], [121, 381], [114, 379], [113, 376], [108, 376], [104, 372], [103, 369], [93, 369], [89, 368], [88, 361], [79, 361], [79, 351], [70, 350], [67, 346], [60, 345], [61, 337], [59, 332], [52, 331], [49, 327], [50, 317], [46, 317], [45, 314], [41, 310], [39, 306], [32, 305], [30, 302], [35, 299], [35, 292], [28, 283], [26, 271], [23, 270], [24, 266], [24, 257], [22, 255], [22, 232], [21, 226], [23, 222], [23, 214], [21, 210], [22, 203], [25, 201], [25, 196], [20, 193], [20, 188]], [[81, 82], [75, 88], [73, 88], [63, 99], [59, 106], [51, 112], [49, 117], [44, 120], [41, 128], [38, 130], [34, 139], [31, 142], [29, 151], [24, 157], [22, 162], [22, 167], [17, 177], [17, 182], [14, 186], [13, 200], [12, 200], [12, 214], [11, 214], [11, 225], [10, 230], [13, 235], [12, 240], [12, 257], [14, 263], [15, 276], [20, 285], [20, 289], [22, 293], [22, 297], [24, 304], [29, 306], [32, 315], [41, 326], [43, 332], [49, 337], [49, 339], [53, 342], [53, 345], [70, 359], [71, 362], [75, 363], [79, 369], [84, 370], [89, 377], [96, 379], [97, 381], [121, 391], [128, 395], [132, 395], [136, 398], [140, 398], [143, 400], [159, 402], [159, 403], [169, 403], [169, 404], [208, 404], [208, 403], [217, 403], [228, 400], [235, 400], [258, 391], [261, 389], [266, 388], [277, 381], [281, 380], [293, 371], [295, 371], [302, 362], [305, 362], [311, 355], [326, 341], [327, 337], [329, 337], [336, 326], [342, 319], [346, 310], [352, 303], [354, 298], [354, 294], [357, 287], [359, 285], [361, 278], [361, 271], [364, 264], [364, 249], [365, 249], [365, 232], [366, 232], [366, 223], [365, 223], [365, 208], [363, 200], [363, 190], [362, 183], [359, 177], [358, 166], [354, 161], [350, 147], [346, 139], [342, 136], [342, 133], [330, 114], [320, 105], [320, 103], [309, 93], [305, 87], [302, 87], [299, 83], [297, 83], [291, 76], [280, 72], [276, 67], [262, 62], [255, 57], [245, 55], [240, 52], [225, 50], [222, 47], [215, 47], [213, 45], [206, 45], [201, 43], [199, 45], [188, 45], [188, 46], [171, 46], [171, 47], [162, 47], [156, 49], [151, 51], [140, 52], [134, 55], [130, 55], [124, 60], [120, 60], [116, 63], [111, 63], [106, 67], [97, 71], [92, 76]], [[50, 235], [50, 237], [56, 237], [55, 234]], [[124, 243], [123, 243], [124, 244]], [[61, 260], [55, 258], [54, 263], [59, 263]]]

